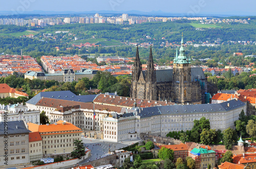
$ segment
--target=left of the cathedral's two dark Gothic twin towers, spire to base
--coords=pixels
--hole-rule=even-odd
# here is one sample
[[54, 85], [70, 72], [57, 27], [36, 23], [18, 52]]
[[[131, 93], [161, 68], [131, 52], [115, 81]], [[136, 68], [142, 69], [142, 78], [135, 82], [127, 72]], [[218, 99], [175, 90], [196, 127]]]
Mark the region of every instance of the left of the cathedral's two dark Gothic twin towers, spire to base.
[[140, 62], [139, 49], [138, 49], [138, 45], [137, 45], [136, 58], [135, 58], [134, 65], [133, 65], [133, 74], [132, 74], [132, 81], [131, 81], [131, 83], [132, 83], [131, 97], [133, 97], [133, 98], [138, 98], [137, 86], [138, 86], [140, 74], [142, 74], [142, 65]]

